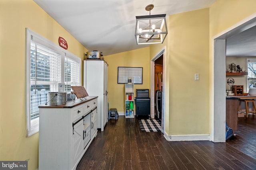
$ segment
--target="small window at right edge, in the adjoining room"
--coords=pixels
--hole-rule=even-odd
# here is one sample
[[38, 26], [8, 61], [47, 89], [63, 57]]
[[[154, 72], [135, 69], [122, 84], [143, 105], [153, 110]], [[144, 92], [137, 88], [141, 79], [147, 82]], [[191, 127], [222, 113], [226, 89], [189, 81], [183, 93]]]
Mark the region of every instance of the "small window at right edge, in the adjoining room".
[[246, 59], [248, 72], [248, 87], [256, 87], [256, 59]]

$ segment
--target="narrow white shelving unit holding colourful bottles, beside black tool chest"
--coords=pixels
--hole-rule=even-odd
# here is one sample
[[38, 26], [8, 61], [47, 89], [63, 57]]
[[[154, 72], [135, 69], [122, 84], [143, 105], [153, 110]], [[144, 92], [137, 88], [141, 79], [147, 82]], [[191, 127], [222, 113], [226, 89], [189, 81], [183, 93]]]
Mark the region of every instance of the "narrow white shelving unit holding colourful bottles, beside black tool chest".
[[[125, 97], [125, 117], [134, 118], [134, 84], [128, 83], [124, 85]], [[131, 108], [132, 107], [132, 108]]]

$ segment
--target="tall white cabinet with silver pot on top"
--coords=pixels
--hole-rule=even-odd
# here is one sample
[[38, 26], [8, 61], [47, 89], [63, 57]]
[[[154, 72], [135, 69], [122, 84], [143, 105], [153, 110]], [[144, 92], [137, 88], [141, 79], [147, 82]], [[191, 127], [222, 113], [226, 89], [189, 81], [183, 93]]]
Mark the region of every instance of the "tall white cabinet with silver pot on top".
[[97, 128], [104, 131], [108, 121], [108, 64], [104, 60], [84, 60], [84, 88], [98, 96]]

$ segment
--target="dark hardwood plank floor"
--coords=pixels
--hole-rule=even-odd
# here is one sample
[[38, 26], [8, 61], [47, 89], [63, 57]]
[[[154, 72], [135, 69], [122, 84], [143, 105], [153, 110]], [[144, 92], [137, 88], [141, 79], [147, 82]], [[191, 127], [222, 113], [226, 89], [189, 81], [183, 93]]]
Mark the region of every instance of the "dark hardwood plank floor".
[[160, 132], [142, 132], [138, 119], [110, 119], [77, 170], [255, 170], [256, 115], [239, 117], [226, 143], [168, 142]]

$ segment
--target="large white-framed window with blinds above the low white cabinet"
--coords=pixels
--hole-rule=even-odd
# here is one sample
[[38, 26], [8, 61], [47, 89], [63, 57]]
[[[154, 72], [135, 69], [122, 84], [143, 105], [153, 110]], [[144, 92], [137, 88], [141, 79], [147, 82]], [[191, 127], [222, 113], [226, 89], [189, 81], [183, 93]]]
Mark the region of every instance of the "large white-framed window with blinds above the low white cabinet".
[[80, 86], [81, 59], [26, 29], [26, 121], [27, 136], [39, 130], [39, 105], [48, 92], [58, 92], [58, 83]]

